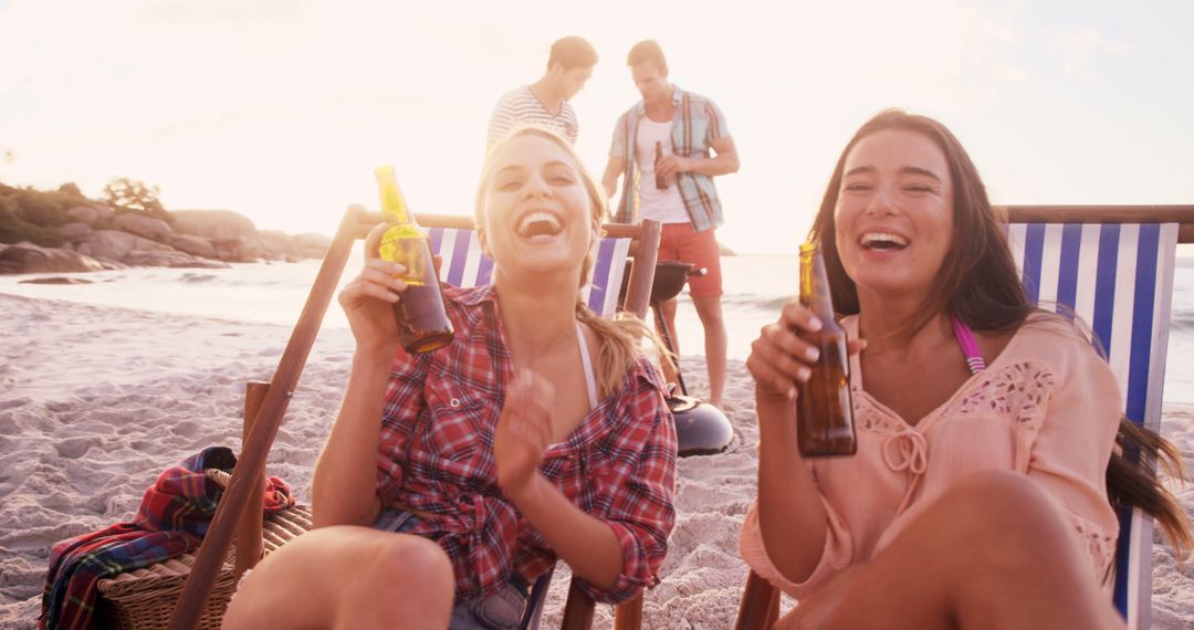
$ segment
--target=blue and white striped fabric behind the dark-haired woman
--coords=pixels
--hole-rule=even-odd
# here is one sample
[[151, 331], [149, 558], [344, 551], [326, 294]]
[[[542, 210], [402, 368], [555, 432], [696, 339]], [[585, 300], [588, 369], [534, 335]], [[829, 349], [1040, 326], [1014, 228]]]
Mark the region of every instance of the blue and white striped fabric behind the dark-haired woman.
[[[1124, 393], [1127, 418], [1161, 430], [1177, 224], [1008, 227], [1008, 242], [1032, 301], [1065, 304], [1089, 325]], [[1120, 514], [1115, 606], [1130, 629], [1150, 625], [1152, 519]]]

